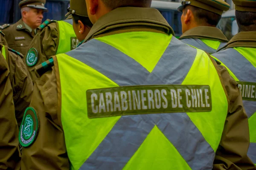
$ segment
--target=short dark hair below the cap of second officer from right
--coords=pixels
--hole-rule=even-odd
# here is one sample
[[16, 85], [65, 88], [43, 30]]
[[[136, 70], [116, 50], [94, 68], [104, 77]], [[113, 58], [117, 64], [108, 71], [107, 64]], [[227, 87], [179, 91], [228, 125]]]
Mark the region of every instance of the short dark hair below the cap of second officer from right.
[[[206, 9], [198, 8], [196, 6], [188, 6], [188, 9], [190, 9], [195, 15], [195, 20], [198, 25], [216, 27], [221, 20], [221, 15], [207, 11]], [[187, 10], [185, 11], [185, 14], [186, 12]]]

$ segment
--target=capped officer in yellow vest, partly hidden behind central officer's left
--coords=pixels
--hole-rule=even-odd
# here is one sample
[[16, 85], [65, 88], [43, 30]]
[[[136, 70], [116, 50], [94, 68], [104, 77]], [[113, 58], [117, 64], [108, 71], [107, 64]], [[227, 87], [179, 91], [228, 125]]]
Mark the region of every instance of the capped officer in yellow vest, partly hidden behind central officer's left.
[[[36, 74], [40, 74], [41, 69], [44, 69], [41, 63], [56, 54], [75, 49], [89, 33], [92, 23], [88, 18], [87, 10], [80, 8], [81, 6], [86, 6], [85, 1], [83, 4], [71, 1], [66, 20], [46, 20], [38, 27], [41, 31], [34, 37], [29, 45], [28, 54], [23, 58], [33, 82], [38, 79]], [[72, 11], [74, 12], [72, 13]], [[74, 16], [74, 20], [70, 14]], [[73, 22], [75, 23], [73, 24]], [[35, 57], [31, 58], [32, 54], [35, 54]], [[35, 68], [37, 68], [37, 72], [35, 72]]]

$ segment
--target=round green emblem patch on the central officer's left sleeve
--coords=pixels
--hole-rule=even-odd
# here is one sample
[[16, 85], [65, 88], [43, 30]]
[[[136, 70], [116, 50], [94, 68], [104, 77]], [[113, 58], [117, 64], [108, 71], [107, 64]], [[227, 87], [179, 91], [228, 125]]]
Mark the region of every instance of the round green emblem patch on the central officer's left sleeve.
[[20, 126], [19, 141], [23, 147], [31, 145], [38, 133], [38, 117], [34, 108], [27, 108]]

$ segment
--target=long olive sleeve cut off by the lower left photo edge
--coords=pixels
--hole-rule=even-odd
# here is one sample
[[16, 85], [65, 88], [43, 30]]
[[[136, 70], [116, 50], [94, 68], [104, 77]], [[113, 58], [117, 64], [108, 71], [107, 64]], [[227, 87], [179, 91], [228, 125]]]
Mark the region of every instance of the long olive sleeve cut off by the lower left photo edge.
[[7, 63], [0, 53], [0, 169], [20, 169], [18, 125]]

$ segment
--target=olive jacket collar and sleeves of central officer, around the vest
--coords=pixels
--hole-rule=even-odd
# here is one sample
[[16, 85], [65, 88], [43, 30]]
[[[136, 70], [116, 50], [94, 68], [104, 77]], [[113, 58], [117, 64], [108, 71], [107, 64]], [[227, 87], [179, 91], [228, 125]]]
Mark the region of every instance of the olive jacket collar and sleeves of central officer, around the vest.
[[[85, 39], [85, 43], [96, 37], [136, 31], [151, 31], [160, 34], [170, 34], [172, 29], [163, 16], [154, 9], [119, 8], [98, 20]], [[143, 16], [143, 18], [142, 18]], [[150, 20], [155, 20], [152, 23]], [[112, 23], [112, 24], [111, 24]], [[86, 56], [84, 56], [86, 57]], [[177, 56], [180, 57], [180, 56]], [[61, 124], [61, 87], [58, 71], [58, 61], [53, 57], [54, 66], [35, 82], [35, 89], [30, 107], [38, 115], [38, 133], [33, 144], [23, 148], [22, 169], [69, 170], [70, 163]], [[224, 125], [224, 131], [216, 152], [215, 170], [254, 170], [253, 163], [247, 157], [249, 147], [249, 127], [244, 113], [241, 92], [236, 81], [230, 77], [223, 66], [215, 63], [219, 76], [224, 80], [227, 90], [229, 112]], [[48, 70], [48, 69], [47, 69]], [[236, 139], [235, 141], [233, 139]], [[49, 161], [51, 160], [51, 161]]]

